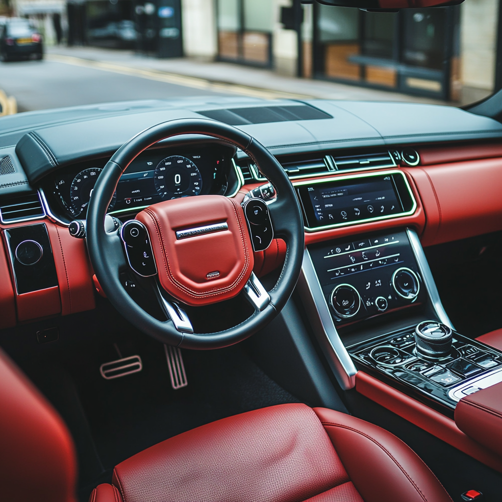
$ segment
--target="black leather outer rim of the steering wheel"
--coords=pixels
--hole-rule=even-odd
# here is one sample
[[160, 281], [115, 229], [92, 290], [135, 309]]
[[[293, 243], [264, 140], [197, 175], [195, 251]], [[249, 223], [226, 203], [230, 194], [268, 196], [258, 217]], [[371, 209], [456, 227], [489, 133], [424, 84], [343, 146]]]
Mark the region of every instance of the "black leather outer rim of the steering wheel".
[[[197, 134], [230, 143], [245, 152], [272, 183], [277, 200], [270, 204], [275, 236], [287, 244], [284, 267], [275, 287], [269, 291], [270, 303], [237, 326], [216, 333], [181, 333], [172, 321], [159, 321], [143, 310], [122, 287], [119, 269], [126, 266], [118, 231], [107, 233], [104, 218], [123, 171], [144, 150], [166, 138]], [[199, 196], [200, 197], [200, 196]], [[275, 157], [246, 133], [209, 119], [177, 119], [162, 122], [133, 137], [108, 161], [92, 192], [87, 209], [87, 248], [101, 288], [123, 317], [157, 340], [184, 348], [211, 349], [231, 345], [268, 324], [284, 307], [298, 280], [303, 260], [304, 230], [295, 190]]]

